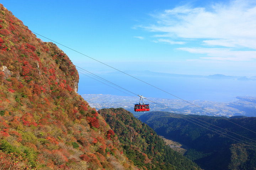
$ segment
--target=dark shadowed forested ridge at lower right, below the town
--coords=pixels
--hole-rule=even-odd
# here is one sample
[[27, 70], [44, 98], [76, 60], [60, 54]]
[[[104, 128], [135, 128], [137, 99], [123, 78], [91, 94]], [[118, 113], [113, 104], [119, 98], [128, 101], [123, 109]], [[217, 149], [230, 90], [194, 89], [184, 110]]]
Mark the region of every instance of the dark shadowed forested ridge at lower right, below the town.
[[[221, 117], [189, 115], [203, 120], [228, 131], [235, 132], [252, 140], [256, 140], [255, 117], [230, 117], [228, 119], [235, 124], [244, 126], [254, 132], [246, 130]], [[221, 130], [225, 134], [235, 136], [236, 141], [204, 129], [187, 120], [188, 115], [180, 115], [170, 112], [149, 112], [139, 117], [144, 123], [153, 128], [158, 135], [177, 141], [185, 145], [188, 151], [187, 158], [194, 160], [205, 170], [254, 170], [256, 169], [256, 144], [247, 138]], [[239, 139], [248, 142], [239, 143]]]

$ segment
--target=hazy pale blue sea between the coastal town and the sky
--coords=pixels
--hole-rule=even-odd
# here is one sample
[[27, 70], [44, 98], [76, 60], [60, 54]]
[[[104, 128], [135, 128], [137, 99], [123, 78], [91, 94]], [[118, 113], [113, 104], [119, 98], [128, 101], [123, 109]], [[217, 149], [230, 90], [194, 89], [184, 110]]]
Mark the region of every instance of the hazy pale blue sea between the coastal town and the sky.
[[[132, 75], [133, 77], [130, 77]], [[187, 101], [230, 102], [237, 96], [256, 96], [256, 79], [208, 78], [194, 75], [144, 74], [129, 75], [113, 72], [79, 74], [78, 93], [111, 94], [153, 98], [183, 99]], [[99, 78], [100, 77], [100, 78]]]

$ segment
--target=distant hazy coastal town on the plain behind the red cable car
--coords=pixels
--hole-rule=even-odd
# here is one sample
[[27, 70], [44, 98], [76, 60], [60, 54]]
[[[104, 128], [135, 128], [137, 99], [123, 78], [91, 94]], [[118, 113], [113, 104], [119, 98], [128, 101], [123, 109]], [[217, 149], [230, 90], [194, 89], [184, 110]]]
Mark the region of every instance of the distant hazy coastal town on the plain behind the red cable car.
[[[144, 112], [134, 112], [134, 104], [139, 103], [139, 97], [115, 96], [104, 94], [84, 94], [81, 95], [91, 107], [97, 110], [102, 108], [124, 108], [132, 112], [136, 117]], [[144, 103], [150, 104], [150, 111], [166, 111], [180, 114], [198, 114], [209, 116], [256, 116], [256, 97], [244, 96], [236, 97], [231, 102], [212, 101], [183, 101], [179, 99], [147, 98]]]

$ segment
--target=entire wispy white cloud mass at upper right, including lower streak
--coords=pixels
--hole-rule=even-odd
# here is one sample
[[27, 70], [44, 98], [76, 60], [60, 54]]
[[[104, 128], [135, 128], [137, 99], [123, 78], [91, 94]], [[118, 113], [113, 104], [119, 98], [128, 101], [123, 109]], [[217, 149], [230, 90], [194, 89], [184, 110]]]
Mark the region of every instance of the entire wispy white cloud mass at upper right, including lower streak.
[[154, 37], [157, 42], [186, 45], [189, 43], [185, 42], [199, 41], [201, 48], [197, 46], [179, 50], [210, 56], [204, 59], [256, 59], [255, 0], [224, 1], [208, 7], [183, 5], [151, 16], [155, 23], [143, 28], [156, 33]]

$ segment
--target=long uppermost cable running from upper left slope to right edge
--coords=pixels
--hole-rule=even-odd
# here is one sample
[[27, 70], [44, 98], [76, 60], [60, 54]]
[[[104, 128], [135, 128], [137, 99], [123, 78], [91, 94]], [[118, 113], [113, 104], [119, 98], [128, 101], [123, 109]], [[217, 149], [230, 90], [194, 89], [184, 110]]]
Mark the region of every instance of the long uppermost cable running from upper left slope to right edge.
[[[0, 17], [0, 18], [2, 18], [2, 17]], [[2, 19], [5, 19], [5, 18], [2, 18]], [[7, 20], [7, 19], [5, 19], [6, 21], [9, 21], [9, 20]], [[12, 23], [11, 21], [9, 21], [10, 23]], [[16, 23], [12, 23], [12, 24], [15, 24], [15, 25], [17, 25], [17, 26], [19, 26], [19, 27], [21, 27], [21, 28], [24, 28], [24, 27], [22, 27], [22, 26], [20, 26], [20, 25], [18, 25], [18, 24], [16, 24]], [[27, 29], [27, 30], [30, 30], [30, 29], [28, 29], [28, 28], [24, 28], [24, 29]], [[31, 31], [31, 30], [30, 30]], [[48, 39], [48, 40], [50, 40], [50, 41], [53, 41], [53, 40], [51, 40], [51, 39], [49, 39], [49, 38], [47, 38], [47, 37], [45, 37], [45, 36], [43, 36], [43, 35], [41, 35], [41, 34], [38, 34], [38, 33], [36, 33], [36, 32], [33, 32], [33, 31], [31, 31], [32, 33], [34, 33], [34, 34], [37, 34], [37, 35], [39, 35], [39, 36], [42, 36], [43, 38], [46, 38], [46, 39]], [[10, 34], [9, 34], [10, 35]], [[53, 42], [55, 42], [55, 43], [57, 43], [57, 44], [59, 44], [59, 45], [62, 45], [62, 46], [64, 46], [64, 47], [66, 47], [66, 48], [68, 48], [68, 49], [70, 49], [70, 50], [72, 50], [72, 51], [75, 51], [75, 52], [77, 52], [77, 53], [80, 53], [81, 55], [84, 55], [84, 56], [86, 56], [86, 57], [89, 57], [89, 56], [87, 56], [87, 55], [85, 55], [85, 54], [83, 54], [83, 53], [81, 53], [81, 52], [79, 52], [79, 51], [76, 51], [76, 50], [74, 50], [74, 49], [71, 49], [70, 47], [67, 47], [67, 46], [65, 46], [65, 45], [63, 45], [63, 44], [60, 44], [59, 42], [56, 42], [56, 41], [53, 41]], [[117, 70], [117, 71], [119, 71], [119, 72], [121, 72], [121, 73], [124, 73], [124, 74], [126, 74], [126, 75], [128, 75], [128, 76], [130, 76], [130, 77], [132, 77], [132, 78], [135, 78], [135, 79], [137, 79], [137, 80], [139, 80], [139, 81], [142, 81], [143, 83], [145, 83], [145, 84], [148, 84], [148, 85], [150, 85], [150, 86], [152, 86], [152, 87], [155, 87], [156, 89], [159, 89], [159, 90], [161, 90], [161, 91], [163, 91], [163, 92], [166, 92], [167, 94], [169, 94], [169, 95], [172, 95], [172, 94], [170, 94], [169, 92], [167, 92], [167, 91], [165, 91], [165, 90], [162, 90], [162, 89], [160, 89], [160, 88], [158, 88], [158, 87], [156, 87], [156, 86], [154, 86], [154, 85], [151, 85], [151, 84], [149, 84], [149, 83], [146, 83], [145, 81], [143, 81], [143, 80], [140, 80], [140, 79], [138, 79], [138, 78], [136, 78], [136, 77], [134, 77], [134, 76], [132, 76], [132, 75], [129, 75], [129, 74], [127, 74], [127, 73], [125, 73], [125, 72], [122, 72], [121, 70], [118, 70], [118, 69], [116, 69], [116, 68], [114, 68], [114, 67], [112, 67], [112, 66], [109, 66], [108, 64], [105, 64], [105, 63], [103, 63], [103, 62], [101, 62], [101, 61], [98, 61], [98, 60], [96, 60], [96, 59], [94, 59], [94, 58], [92, 58], [92, 57], [89, 57], [89, 58], [91, 58], [92, 60], [95, 60], [95, 61], [97, 61], [97, 62], [99, 62], [99, 63], [102, 63], [102, 64], [104, 64], [104, 65], [106, 65], [106, 66], [108, 66], [108, 67], [111, 67], [111, 68], [113, 68], [113, 69], [115, 69], [115, 70]], [[75, 65], [74, 65], [75, 66]], [[76, 66], [76, 67], [78, 67], [78, 66]], [[79, 67], [80, 68], [80, 67]], [[119, 86], [120, 87], [120, 86]], [[121, 87], [122, 88], [122, 87]], [[123, 89], [123, 88], [122, 88]], [[125, 89], [126, 90], [126, 89]], [[130, 91], [129, 91], [130, 92]], [[132, 92], [133, 93], [133, 92]], [[134, 93], [133, 93], [134, 94]], [[136, 94], [135, 94], [136, 95]], [[204, 109], [204, 108], [202, 108], [202, 107], [199, 107], [199, 106], [197, 106], [196, 104], [193, 104], [193, 103], [191, 103], [191, 102], [188, 102], [188, 101], [186, 101], [186, 100], [183, 100], [182, 98], [180, 98], [180, 97], [177, 97], [177, 96], [175, 96], [175, 95], [172, 95], [172, 96], [174, 96], [174, 97], [176, 97], [176, 98], [179, 98], [180, 100], [182, 100], [182, 101], [185, 101], [185, 102], [187, 102], [187, 103], [190, 103], [190, 104], [192, 104], [193, 106], [196, 106], [196, 107], [198, 107], [198, 108], [201, 108], [202, 110], [204, 110], [204, 111], [206, 111], [206, 112], [208, 112], [208, 113], [212, 113], [212, 114], [214, 114], [213, 112], [210, 112], [210, 111], [208, 111], [208, 110], [206, 110], [206, 109]], [[214, 115], [217, 115], [217, 114], [214, 114]], [[217, 115], [218, 116], [218, 115]], [[223, 118], [223, 117], [220, 117], [220, 118], [222, 118], [222, 119], [225, 119], [225, 118]], [[250, 130], [250, 129], [247, 129], [247, 128], [245, 128], [245, 127], [243, 127], [243, 126], [241, 126], [241, 125], [239, 125], [239, 124], [236, 124], [236, 123], [234, 123], [234, 122], [232, 122], [232, 121], [230, 121], [230, 120], [228, 120], [228, 119], [225, 119], [225, 120], [227, 120], [227, 121], [229, 121], [229, 122], [231, 122], [231, 123], [233, 123], [233, 124], [235, 124], [235, 125], [238, 125], [238, 126], [240, 126], [240, 127], [242, 127], [242, 128], [244, 128], [244, 129], [246, 129], [246, 130], [249, 130], [249, 131], [251, 131], [251, 132], [254, 132], [254, 131], [252, 131], [252, 130]], [[256, 132], [254, 132], [254, 133], [256, 133]]]

